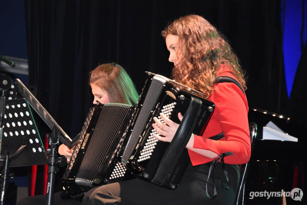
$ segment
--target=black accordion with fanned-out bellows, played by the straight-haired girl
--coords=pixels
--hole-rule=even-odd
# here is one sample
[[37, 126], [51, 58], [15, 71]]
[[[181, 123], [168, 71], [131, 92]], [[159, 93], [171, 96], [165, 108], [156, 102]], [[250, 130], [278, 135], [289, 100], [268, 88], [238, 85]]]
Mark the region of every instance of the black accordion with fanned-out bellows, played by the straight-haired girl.
[[78, 198], [93, 187], [133, 178], [118, 161], [133, 108], [107, 103], [90, 109], [62, 177], [66, 196]]

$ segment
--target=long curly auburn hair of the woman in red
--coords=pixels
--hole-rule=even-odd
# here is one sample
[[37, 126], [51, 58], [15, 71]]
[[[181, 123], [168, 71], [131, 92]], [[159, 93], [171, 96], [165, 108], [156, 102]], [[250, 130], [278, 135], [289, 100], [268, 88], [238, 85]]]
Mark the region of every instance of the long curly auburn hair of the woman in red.
[[178, 36], [180, 65], [173, 68], [174, 80], [210, 96], [218, 69], [227, 65], [243, 89], [247, 89], [237, 56], [207, 20], [198, 15], [181, 17], [162, 31], [164, 39], [169, 34]]

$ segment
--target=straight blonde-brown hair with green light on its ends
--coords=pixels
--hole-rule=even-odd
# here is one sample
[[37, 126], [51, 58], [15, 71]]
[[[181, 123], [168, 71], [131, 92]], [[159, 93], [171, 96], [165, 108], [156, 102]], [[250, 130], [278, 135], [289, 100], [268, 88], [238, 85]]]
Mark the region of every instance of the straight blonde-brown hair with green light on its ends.
[[139, 95], [135, 85], [122, 66], [102, 64], [90, 72], [90, 85], [94, 84], [106, 91], [110, 102], [135, 106]]

